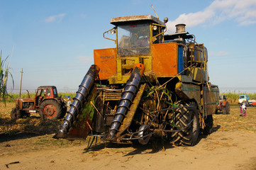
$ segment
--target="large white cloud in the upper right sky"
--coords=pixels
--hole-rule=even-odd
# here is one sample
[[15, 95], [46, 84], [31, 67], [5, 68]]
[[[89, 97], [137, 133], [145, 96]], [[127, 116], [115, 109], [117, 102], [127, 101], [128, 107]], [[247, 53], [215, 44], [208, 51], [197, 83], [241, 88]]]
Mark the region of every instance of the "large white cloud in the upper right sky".
[[226, 20], [234, 20], [240, 26], [256, 23], [255, 0], [215, 0], [210, 6], [195, 13], [182, 13], [167, 23], [168, 33], [175, 32], [175, 25], [184, 23], [187, 27], [210, 26]]

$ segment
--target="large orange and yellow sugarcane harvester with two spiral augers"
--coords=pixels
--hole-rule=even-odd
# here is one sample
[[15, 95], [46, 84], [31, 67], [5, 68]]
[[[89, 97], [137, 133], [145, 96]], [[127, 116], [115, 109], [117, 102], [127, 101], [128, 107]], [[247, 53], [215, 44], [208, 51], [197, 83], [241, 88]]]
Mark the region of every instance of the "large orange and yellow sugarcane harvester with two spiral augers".
[[[174, 145], [195, 145], [209, 134], [218, 104], [218, 86], [208, 78], [204, 44], [150, 15], [111, 18], [104, 38], [115, 48], [94, 50], [85, 75], [55, 138], [142, 145], [162, 137]], [[115, 38], [109, 38], [111, 35]]]

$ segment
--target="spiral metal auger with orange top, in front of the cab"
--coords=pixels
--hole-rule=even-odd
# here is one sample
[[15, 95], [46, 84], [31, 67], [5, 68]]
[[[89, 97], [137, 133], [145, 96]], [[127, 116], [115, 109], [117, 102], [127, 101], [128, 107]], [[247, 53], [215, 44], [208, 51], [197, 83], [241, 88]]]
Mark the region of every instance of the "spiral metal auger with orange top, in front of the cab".
[[143, 76], [144, 71], [145, 67], [143, 64], [138, 63], [135, 65], [133, 72], [130, 74], [130, 79], [128, 79], [124, 91], [121, 95], [122, 97], [119, 101], [118, 107], [116, 108], [116, 113], [111, 123], [111, 128], [108, 132], [108, 135], [106, 136], [106, 140], [115, 140], [116, 133], [118, 132], [123, 119], [125, 118], [126, 113], [130, 108], [130, 103], [132, 103], [133, 98], [138, 91], [140, 79]]

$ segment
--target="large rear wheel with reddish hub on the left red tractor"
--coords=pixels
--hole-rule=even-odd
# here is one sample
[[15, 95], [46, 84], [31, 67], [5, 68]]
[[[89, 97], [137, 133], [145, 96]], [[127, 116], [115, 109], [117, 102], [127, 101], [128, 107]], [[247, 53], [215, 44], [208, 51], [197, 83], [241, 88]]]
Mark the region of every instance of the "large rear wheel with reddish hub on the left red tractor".
[[43, 101], [39, 107], [39, 114], [43, 119], [56, 120], [62, 116], [62, 107], [57, 101]]

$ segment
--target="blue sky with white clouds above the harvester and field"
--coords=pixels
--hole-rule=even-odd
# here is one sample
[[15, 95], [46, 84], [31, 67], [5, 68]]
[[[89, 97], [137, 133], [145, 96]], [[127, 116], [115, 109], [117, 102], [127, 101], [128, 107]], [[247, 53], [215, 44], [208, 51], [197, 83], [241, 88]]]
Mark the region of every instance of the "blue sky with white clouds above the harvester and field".
[[93, 50], [115, 47], [103, 38], [113, 28], [110, 19], [155, 16], [152, 4], [160, 20], [169, 18], [169, 33], [177, 23], [185, 23], [196, 42], [204, 43], [212, 84], [222, 92], [256, 92], [255, 0], [0, 0], [0, 4], [0, 50], [11, 58], [16, 90], [23, 68], [22, 92], [41, 85], [77, 91], [94, 62]]

